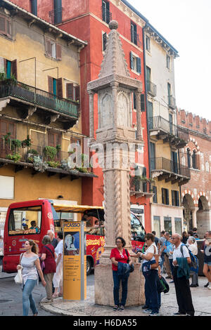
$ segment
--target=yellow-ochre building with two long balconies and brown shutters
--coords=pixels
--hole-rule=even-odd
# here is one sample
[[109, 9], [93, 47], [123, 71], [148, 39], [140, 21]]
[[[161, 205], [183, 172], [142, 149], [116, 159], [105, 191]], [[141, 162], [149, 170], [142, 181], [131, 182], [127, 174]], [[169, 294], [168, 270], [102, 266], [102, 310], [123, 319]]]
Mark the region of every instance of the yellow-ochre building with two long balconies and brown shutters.
[[81, 204], [82, 180], [93, 176], [67, 167], [70, 143], [82, 147], [84, 138], [79, 55], [87, 43], [13, 4], [3, 2], [0, 20], [0, 230], [4, 230], [9, 204], [39, 198]]

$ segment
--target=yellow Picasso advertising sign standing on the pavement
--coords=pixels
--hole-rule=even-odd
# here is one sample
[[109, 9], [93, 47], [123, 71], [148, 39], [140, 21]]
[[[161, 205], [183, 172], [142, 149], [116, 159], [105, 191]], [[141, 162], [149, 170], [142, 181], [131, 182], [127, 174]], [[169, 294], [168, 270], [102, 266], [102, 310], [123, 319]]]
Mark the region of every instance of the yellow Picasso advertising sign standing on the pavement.
[[80, 221], [70, 221], [64, 223], [63, 230], [63, 299], [85, 299], [87, 298], [87, 260], [85, 244], [82, 246], [84, 226]]

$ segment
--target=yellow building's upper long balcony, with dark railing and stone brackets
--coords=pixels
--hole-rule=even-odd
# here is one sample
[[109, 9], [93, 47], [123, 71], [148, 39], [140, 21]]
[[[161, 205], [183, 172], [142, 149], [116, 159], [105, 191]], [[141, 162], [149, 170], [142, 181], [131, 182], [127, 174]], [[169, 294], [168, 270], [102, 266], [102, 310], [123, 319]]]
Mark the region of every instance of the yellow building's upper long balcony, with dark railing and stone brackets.
[[79, 103], [12, 79], [0, 81], [0, 100], [2, 98], [7, 98], [10, 105], [21, 109], [22, 119], [30, 116], [32, 107], [34, 112], [41, 110], [40, 117], [43, 116], [43, 110], [46, 110], [44, 124], [51, 124], [51, 121], [58, 119], [63, 123], [64, 129], [75, 125], [79, 117]]

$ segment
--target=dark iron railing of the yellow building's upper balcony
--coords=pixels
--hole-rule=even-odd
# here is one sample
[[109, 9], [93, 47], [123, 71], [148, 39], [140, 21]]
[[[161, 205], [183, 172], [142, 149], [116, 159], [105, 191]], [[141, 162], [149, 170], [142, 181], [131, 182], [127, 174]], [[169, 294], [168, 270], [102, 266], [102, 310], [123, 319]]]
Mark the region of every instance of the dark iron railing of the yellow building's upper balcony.
[[56, 110], [62, 114], [68, 114], [75, 119], [79, 117], [79, 103], [60, 98], [39, 88], [23, 84], [20, 81], [12, 81], [10, 79], [0, 81], [0, 98], [5, 98], [6, 96], [24, 100], [38, 107]]

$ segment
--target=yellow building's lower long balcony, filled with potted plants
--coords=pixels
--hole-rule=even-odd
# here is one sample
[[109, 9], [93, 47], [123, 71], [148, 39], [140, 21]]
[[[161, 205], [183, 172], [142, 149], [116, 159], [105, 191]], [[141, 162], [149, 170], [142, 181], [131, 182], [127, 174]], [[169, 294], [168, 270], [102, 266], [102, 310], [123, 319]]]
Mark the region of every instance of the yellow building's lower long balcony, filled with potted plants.
[[[17, 141], [17, 140], [14, 140]], [[47, 152], [49, 146], [43, 147], [40, 145], [13, 145], [13, 140], [6, 143], [4, 138], [0, 140], [0, 167], [8, 164], [15, 166], [15, 173], [23, 169], [32, 169], [32, 175], [37, 173], [47, 173], [48, 176], [59, 174], [60, 179], [65, 176], [70, 176], [71, 180], [79, 177], [96, 177], [91, 173], [91, 168], [82, 167], [70, 168], [68, 159], [71, 152], [57, 150], [51, 148], [51, 152]], [[54, 153], [52, 153], [52, 148]]]

